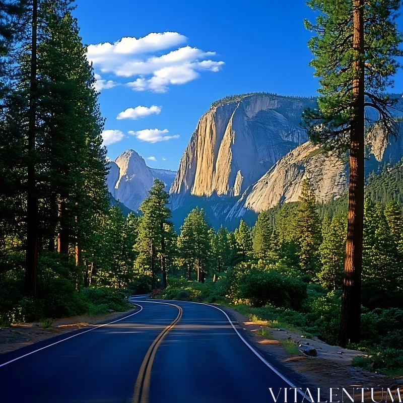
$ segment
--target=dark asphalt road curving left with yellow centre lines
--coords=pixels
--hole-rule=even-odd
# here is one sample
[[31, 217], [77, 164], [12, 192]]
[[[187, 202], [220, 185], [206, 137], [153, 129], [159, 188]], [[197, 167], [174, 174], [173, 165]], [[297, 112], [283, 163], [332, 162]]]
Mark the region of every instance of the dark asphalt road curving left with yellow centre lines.
[[273, 402], [269, 387], [294, 386], [221, 310], [132, 302], [113, 323], [0, 356], [0, 402]]

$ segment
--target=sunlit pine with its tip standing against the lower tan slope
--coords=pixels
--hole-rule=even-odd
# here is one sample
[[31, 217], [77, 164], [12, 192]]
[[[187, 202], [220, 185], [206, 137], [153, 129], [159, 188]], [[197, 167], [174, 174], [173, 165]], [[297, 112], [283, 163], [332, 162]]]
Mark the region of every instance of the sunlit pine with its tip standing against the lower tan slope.
[[295, 239], [299, 266], [303, 273], [313, 276], [319, 267], [321, 232], [315, 194], [307, 179], [302, 182], [298, 200], [299, 205], [295, 214]]

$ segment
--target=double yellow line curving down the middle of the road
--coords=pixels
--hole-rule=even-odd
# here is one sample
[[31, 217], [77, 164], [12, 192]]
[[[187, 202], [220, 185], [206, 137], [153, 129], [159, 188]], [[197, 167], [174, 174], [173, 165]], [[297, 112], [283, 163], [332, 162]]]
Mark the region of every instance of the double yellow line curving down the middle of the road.
[[162, 340], [166, 336], [169, 330], [175, 326], [175, 324], [179, 321], [182, 316], [182, 308], [178, 305], [168, 304], [172, 306], [176, 306], [179, 309], [178, 316], [173, 320], [171, 324], [165, 327], [164, 330], [160, 334], [158, 334], [157, 338], [154, 340], [153, 344], [147, 351], [146, 356], [144, 357], [142, 366], [140, 367], [139, 375], [137, 377], [136, 385], [135, 385], [135, 394], [132, 398], [132, 403], [148, 403], [149, 394], [150, 394], [150, 378], [151, 378], [151, 367], [153, 366], [155, 354], [158, 350], [159, 345]]

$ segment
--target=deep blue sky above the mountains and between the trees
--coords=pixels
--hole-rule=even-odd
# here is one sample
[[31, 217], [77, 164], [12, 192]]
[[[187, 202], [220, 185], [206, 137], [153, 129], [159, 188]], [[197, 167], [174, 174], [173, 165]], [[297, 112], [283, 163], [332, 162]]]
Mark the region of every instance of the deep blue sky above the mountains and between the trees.
[[[105, 130], [114, 130], [111, 159], [131, 148], [154, 157], [151, 167], [176, 170], [213, 101], [253, 91], [316, 94], [303, 26], [314, 15], [303, 0], [77, 0], [75, 15], [84, 43], [106, 43], [89, 56], [98, 85], [112, 87], [99, 98]], [[395, 91], [402, 86], [400, 73]]]

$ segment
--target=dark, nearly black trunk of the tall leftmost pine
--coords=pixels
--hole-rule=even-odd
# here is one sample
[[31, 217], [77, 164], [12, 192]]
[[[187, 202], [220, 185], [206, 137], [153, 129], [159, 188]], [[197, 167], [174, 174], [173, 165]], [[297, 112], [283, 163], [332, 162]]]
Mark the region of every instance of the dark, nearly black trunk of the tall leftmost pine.
[[29, 89], [28, 166], [27, 166], [27, 248], [25, 256], [25, 290], [37, 297], [39, 202], [35, 177], [36, 92], [37, 92], [37, 23], [38, 0], [32, 1], [31, 71]]

